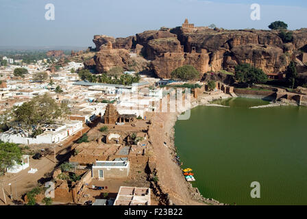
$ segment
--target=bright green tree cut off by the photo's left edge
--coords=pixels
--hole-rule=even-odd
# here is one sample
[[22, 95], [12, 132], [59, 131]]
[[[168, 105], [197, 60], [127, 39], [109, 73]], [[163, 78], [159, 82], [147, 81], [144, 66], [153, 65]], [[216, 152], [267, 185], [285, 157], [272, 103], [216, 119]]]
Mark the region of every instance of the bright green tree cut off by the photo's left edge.
[[18, 144], [0, 142], [0, 172], [14, 165], [14, 162], [21, 162], [21, 148]]

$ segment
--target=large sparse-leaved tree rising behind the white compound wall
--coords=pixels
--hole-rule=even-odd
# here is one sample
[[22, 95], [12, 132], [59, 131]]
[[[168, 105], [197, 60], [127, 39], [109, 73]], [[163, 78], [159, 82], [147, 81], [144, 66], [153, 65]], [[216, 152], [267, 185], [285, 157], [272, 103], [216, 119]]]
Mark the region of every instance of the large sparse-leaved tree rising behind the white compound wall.
[[29, 137], [36, 137], [42, 132], [42, 126], [62, 120], [69, 109], [66, 104], [58, 105], [48, 94], [34, 97], [21, 106], [14, 106], [8, 111], [8, 127], [22, 130]]

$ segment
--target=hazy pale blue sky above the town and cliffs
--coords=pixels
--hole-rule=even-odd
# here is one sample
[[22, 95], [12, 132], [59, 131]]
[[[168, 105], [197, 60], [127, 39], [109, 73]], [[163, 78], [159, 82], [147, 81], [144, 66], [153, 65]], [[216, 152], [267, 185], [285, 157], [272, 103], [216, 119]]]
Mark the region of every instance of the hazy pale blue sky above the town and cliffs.
[[[45, 19], [45, 5], [55, 20]], [[250, 6], [261, 6], [251, 21]], [[307, 27], [306, 0], [1, 0], [0, 46], [93, 46], [95, 34], [131, 36], [148, 29], [211, 23], [225, 29], [268, 29], [284, 21], [289, 29]]]

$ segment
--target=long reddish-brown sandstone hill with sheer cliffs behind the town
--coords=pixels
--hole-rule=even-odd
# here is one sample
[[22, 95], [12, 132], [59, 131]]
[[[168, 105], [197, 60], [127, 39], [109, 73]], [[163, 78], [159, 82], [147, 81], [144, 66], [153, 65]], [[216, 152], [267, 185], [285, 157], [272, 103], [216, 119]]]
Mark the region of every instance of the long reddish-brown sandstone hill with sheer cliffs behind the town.
[[293, 31], [293, 40], [288, 43], [283, 42], [278, 31], [210, 29], [190, 24], [127, 38], [96, 35], [93, 42], [97, 53], [85, 65], [95, 67], [98, 73], [122, 66], [127, 70], [153, 70], [158, 77], [169, 78], [175, 68], [186, 64], [206, 73], [234, 71], [234, 66], [246, 62], [267, 74], [277, 74], [283, 73], [291, 60], [302, 56], [307, 47], [307, 29]]

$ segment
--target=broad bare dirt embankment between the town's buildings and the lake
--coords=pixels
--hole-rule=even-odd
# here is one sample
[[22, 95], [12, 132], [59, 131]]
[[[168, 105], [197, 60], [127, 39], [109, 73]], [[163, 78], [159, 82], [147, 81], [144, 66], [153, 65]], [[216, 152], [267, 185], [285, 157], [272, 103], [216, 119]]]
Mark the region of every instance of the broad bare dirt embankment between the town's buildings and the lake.
[[153, 126], [149, 135], [153, 144], [159, 184], [176, 205], [204, 205], [192, 199], [180, 166], [173, 162], [173, 125], [176, 120], [175, 113], [156, 113], [152, 118]]

